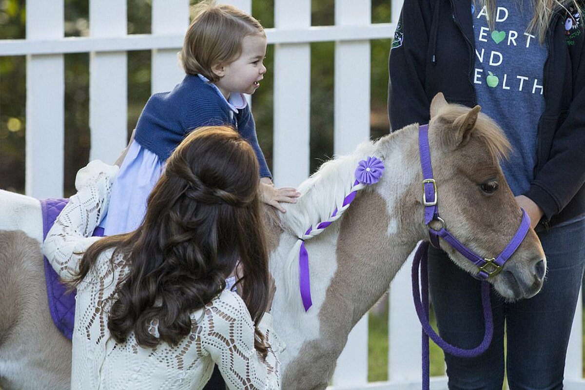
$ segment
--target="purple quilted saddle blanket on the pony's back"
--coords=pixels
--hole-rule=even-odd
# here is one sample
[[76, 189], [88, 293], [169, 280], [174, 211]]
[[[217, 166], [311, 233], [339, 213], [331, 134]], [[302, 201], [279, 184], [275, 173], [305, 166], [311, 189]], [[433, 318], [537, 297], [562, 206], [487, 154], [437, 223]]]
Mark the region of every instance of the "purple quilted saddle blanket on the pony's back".
[[[43, 240], [47, 237], [47, 233], [49, 233], [55, 219], [57, 219], [68, 201], [69, 199], [43, 199], [40, 201], [43, 213]], [[94, 230], [94, 236], [103, 235], [104, 229], [101, 227]], [[44, 279], [47, 285], [49, 311], [53, 322], [63, 333], [63, 336], [71, 340], [75, 319], [75, 291], [67, 293], [67, 286], [61, 282], [59, 274], [53, 270], [46, 257], [44, 257]]]

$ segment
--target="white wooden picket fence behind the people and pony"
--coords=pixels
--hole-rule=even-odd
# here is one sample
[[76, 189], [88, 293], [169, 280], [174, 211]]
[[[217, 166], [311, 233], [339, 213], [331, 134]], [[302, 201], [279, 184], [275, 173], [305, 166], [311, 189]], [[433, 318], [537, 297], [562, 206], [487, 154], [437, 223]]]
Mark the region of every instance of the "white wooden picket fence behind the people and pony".
[[[251, 12], [251, 0], [226, 3]], [[311, 26], [311, 0], [274, 0], [274, 164], [277, 184], [296, 185], [309, 174], [310, 43], [335, 42], [335, 153], [353, 150], [370, 136], [370, 40], [393, 36], [393, 20], [371, 24], [371, 1], [335, 0], [335, 25]], [[64, 38], [64, 0], [26, 0], [26, 39], [0, 40], [0, 56], [27, 56], [26, 193], [63, 195], [64, 61], [91, 53], [90, 158], [113, 161], [126, 143], [127, 53], [152, 50], [152, 92], [183, 77], [176, 53], [189, 21], [188, 0], [152, 0], [152, 34], [126, 34], [126, 0], [90, 0], [89, 37]], [[50, 153], [47, 153], [50, 151]], [[294, 161], [294, 164], [291, 163]], [[367, 383], [367, 316], [338, 360], [333, 389], [420, 388], [420, 333], [410, 293], [409, 264], [394, 279], [389, 299], [388, 382]], [[579, 308], [581, 303], [579, 302]], [[527, 357], [529, 358], [529, 357]], [[581, 312], [567, 357], [565, 386], [583, 389]], [[433, 389], [446, 389], [433, 378]]]

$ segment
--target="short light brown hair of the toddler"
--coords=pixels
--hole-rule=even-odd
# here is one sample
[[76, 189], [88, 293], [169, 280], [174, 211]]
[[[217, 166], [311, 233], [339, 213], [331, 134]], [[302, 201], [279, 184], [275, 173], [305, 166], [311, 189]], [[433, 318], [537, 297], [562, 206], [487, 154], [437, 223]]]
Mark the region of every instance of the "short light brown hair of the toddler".
[[204, 0], [193, 8], [193, 21], [185, 34], [179, 61], [187, 74], [201, 74], [215, 82], [216, 63], [229, 64], [242, 53], [245, 36], [266, 36], [264, 27], [245, 12], [231, 5]]

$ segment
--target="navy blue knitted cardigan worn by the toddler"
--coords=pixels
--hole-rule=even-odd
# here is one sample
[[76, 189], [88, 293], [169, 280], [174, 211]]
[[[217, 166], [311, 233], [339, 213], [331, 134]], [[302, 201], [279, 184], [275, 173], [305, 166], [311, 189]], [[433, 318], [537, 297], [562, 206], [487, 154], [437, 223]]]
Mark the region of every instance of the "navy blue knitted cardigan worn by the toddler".
[[271, 177], [258, 144], [250, 106], [239, 109], [238, 113], [233, 112], [214, 86], [198, 75], [186, 75], [173, 91], [150, 96], [136, 123], [134, 137], [140, 145], [165, 161], [192, 130], [221, 125], [231, 126], [242, 134], [256, 152], [260, 177]]

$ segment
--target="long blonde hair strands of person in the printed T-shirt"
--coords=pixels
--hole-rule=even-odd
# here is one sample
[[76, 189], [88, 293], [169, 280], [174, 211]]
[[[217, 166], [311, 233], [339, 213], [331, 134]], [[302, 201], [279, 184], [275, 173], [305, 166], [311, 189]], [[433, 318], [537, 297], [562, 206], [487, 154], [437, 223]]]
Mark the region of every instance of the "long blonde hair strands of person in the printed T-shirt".
[[[538, 36], [538, 40], [543, 43], [545, 42], [546, 32], [548, 31], [550, 22], [553, 16], [557, 12], [569, 12], [569, 6], [573, 5], [575, 9], [580, 12], [583, 11], [577, 0], [520, 0], [520, 1], [532, 1], [534, 4], [534, 15], [528, 25], [527, 32], [535, 32]], [[490, 28], [494, 29], [494, 15], [495, 8], [497, 6], [497, 0], [479, 0], [481, 6], [486, 6], [488, 18], [488, 24]]]

